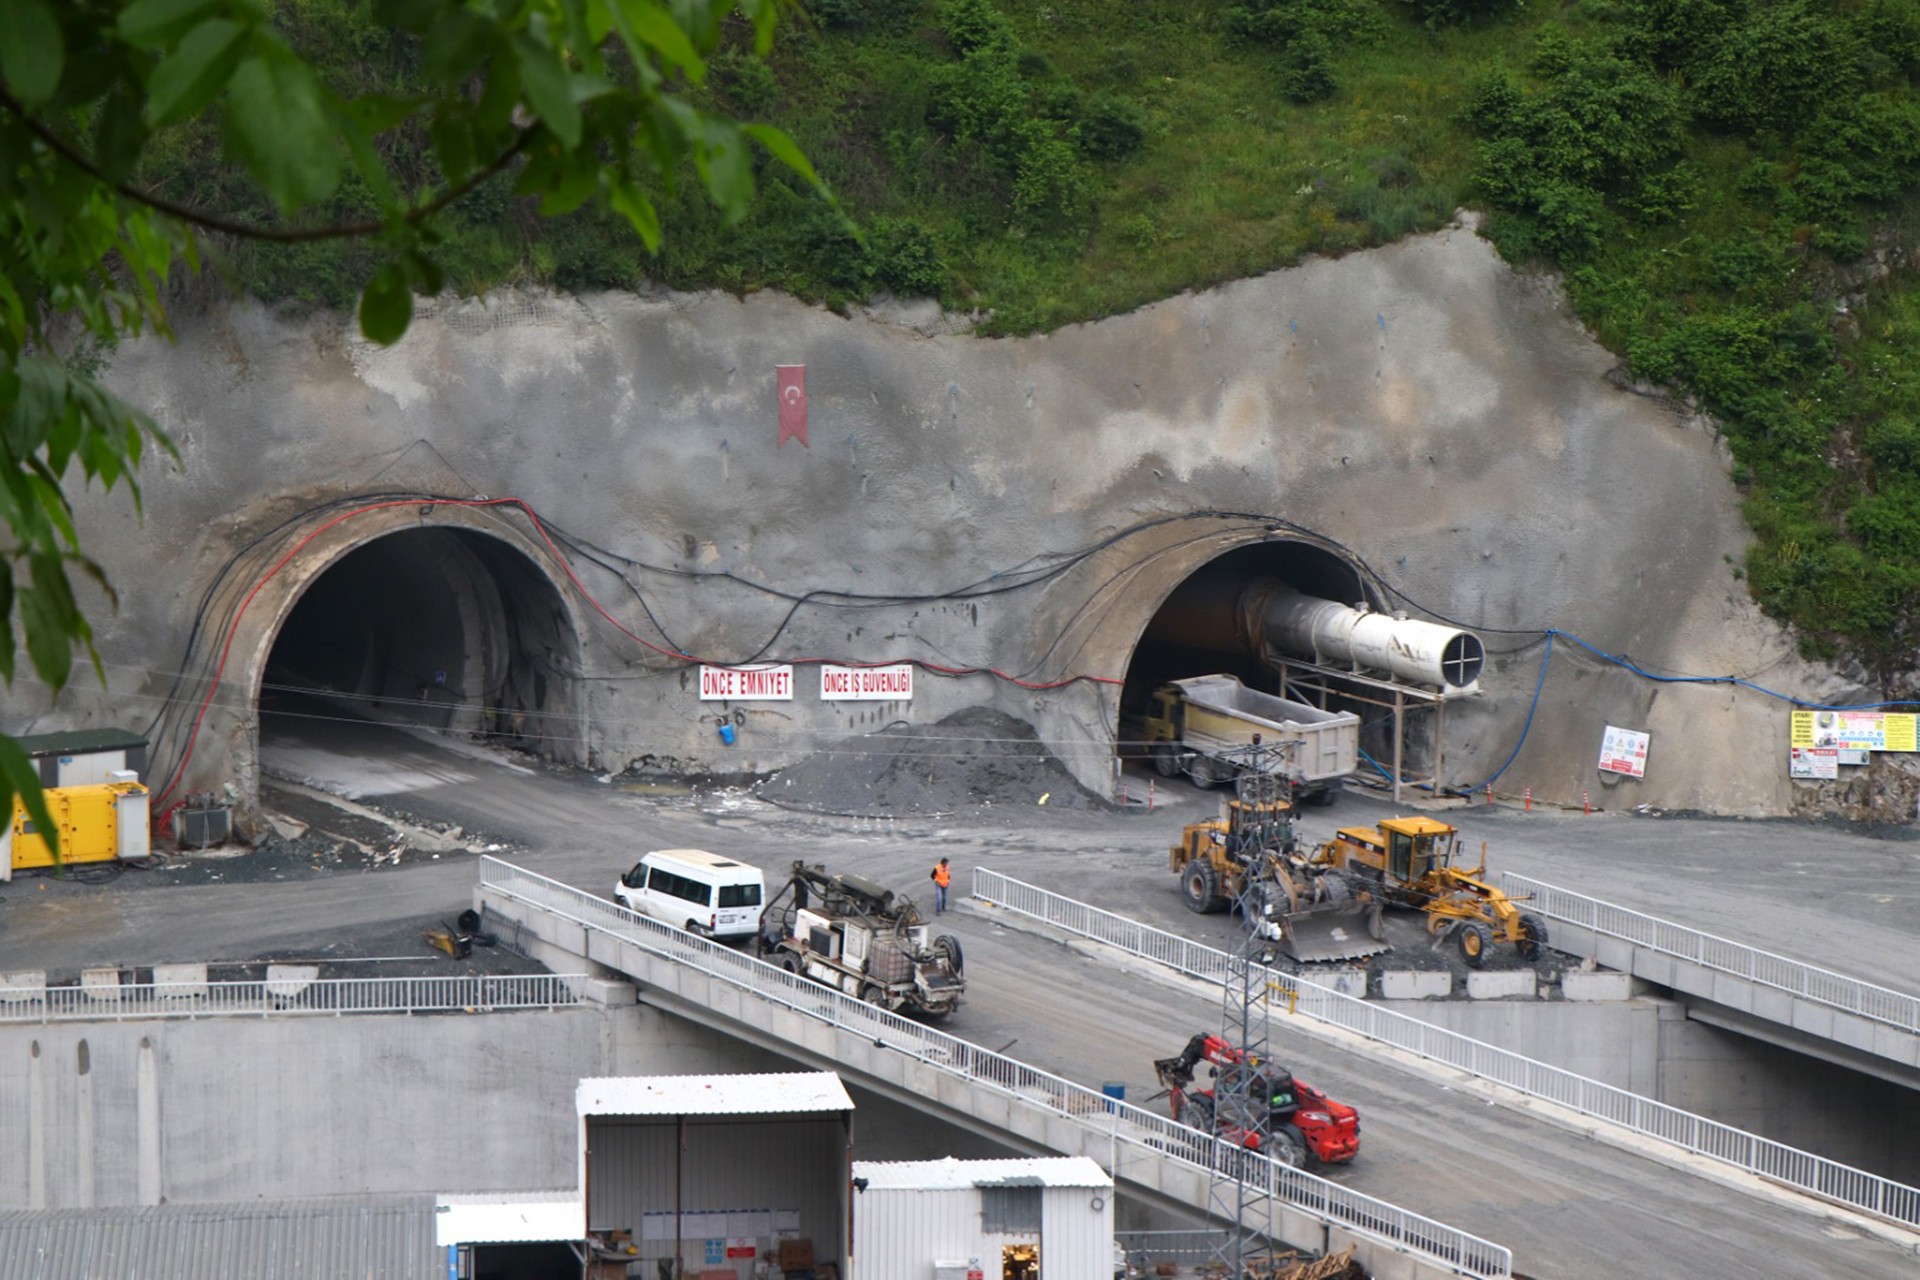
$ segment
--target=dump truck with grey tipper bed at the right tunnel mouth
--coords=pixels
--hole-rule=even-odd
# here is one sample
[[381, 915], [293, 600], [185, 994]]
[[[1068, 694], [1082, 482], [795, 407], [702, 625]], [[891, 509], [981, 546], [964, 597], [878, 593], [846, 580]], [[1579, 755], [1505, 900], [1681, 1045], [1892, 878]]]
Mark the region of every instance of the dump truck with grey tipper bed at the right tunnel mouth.
[[1196, 787], [1244, 771], [1286, 775], [1302, 800], [1331, 804], [1359, 762], [1359, 716], [1327, 712], [1260, 689], [1238, 676], [1194, 676], [1154, 691], [1146, 752], [1162, 777]]

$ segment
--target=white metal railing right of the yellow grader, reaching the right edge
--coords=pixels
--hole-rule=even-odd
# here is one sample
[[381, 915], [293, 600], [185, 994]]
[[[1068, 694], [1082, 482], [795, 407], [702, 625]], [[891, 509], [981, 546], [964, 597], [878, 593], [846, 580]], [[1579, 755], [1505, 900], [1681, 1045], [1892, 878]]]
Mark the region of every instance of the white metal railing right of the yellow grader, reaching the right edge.
[[1526, 910], [1538, 912], [1548, 919], [1592, 929], [1597, 935], [1620, 938], [1661, 956], [1686, 960], [1703, 969], [1728, 973], [1761, 986], [1784, 990], [1801, 1000], [1920, 1034], [1920, 996], [1874, 986], [1843, 973], [1774, 956], [1772, 952], [1688, 929], [1655, 915], [1628, 912], [1622, 906], [1588, 898], [1555, 885], [1544, 885], [1513, 871], [1503, 871], [1501, 883], [1509, 892], [1528, 894], [1532, 902], [1528, 902]]

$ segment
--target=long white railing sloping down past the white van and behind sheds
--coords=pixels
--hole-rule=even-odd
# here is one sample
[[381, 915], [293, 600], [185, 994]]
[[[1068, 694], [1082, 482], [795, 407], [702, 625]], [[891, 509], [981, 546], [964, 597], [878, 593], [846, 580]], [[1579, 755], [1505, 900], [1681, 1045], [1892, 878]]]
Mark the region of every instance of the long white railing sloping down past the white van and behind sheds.
[[737, 990], [851, 1031], [866, 1042], [883, 1044], [927, 1069], [964, 1079], [1021, 1105], [1044, 1109], [1046, 1119], [1064, 1119], [1085, 1126], [1102, 1142], [1202, 1169], [1244, 1171], [1248, 1184], [1263, 1196], [1273, 1196], [1327, 1222], [1375, 1236], [1396, 1247], [1419, 1251], [1461, 1274], [1498, 1280], [1513, 1272], [1513, 1253], [1505, 1245], [1327, 1182], [1302, 1169], [1288, 1169], [1263, 1153], [1219, 1142], [1179, 1125], [1167, 1115], [1108, 1098], [1085, 1084], [933, 1031], [745, 952], [628, 912], [616, 902], [572, 885], [563, 885], [499, 858], [480, 860], [480, 885], [549, 912], [582, 927], [588, 935], [605, 933], [651, 958], [695, 969]]

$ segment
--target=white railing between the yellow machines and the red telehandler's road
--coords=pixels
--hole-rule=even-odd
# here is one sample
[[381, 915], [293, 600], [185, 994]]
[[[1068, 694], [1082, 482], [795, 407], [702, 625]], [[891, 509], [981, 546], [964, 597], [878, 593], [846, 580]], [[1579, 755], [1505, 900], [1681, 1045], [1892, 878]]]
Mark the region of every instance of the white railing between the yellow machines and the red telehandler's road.
[[[1104, 912], [1012, 877], [973, 869], [973, 896], [1008, 912], [1044, 921], [1083, 938], [1156, 960], [1196, 979], [1223, 981], [1231, 956], [1179, 938], [1135, 919]], [[1695, 1155], [1736, 1165], [1745, 1173], [1791, 1186], [1901, 1226], [1920, 1226], [1920, 1188], [1851, 1169], [1822, 1155], [1784, 1146], [1743, 1128], [1709, 1121], [1665, 1102], [1630, 1094], [1613, 1084], [1549, 1067], [1507, 1050], [1473, 1040], [1417, 1017], [1336, 992], [1304, 977], [1267, 971], [1267, 990], [1286, 1000], [1288, 1013], [1304, 1015], [1430, 1061], [1457, 1067], [1521, 1094], [1544, 1098], [1580, 1115], [1620, 1125], [1636, 1134], [1670, 1142]]]

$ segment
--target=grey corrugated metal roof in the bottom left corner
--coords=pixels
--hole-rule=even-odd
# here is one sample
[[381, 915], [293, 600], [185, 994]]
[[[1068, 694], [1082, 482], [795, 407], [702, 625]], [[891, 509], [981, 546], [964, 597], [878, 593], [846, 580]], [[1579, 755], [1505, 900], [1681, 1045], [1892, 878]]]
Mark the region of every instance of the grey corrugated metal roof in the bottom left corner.
[[444, 1280], [432, 1196], [0, 1213], [0, 1280]]

